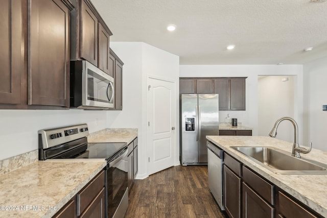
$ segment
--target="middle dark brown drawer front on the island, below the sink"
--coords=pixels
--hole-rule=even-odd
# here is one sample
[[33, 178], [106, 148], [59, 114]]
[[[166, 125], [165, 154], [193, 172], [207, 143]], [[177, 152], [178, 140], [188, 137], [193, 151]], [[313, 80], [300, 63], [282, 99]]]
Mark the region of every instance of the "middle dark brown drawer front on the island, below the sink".
[[246, 182], [253, 190], [255, 190], [263, 199], [274, 205], [274, 190], [275, 186], [262, 179], [250, 169], [243, 166], [242, 168], [242, 179]]

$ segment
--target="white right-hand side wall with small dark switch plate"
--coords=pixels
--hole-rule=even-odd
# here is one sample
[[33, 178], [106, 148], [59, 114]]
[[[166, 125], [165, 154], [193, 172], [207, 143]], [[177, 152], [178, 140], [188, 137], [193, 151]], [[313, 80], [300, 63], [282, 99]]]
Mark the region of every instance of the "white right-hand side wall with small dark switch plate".
[[305, 90], [305, 131], [306, 143], [312, 147], [327, 151], [327, 57], [303, 65], [303, 87]]

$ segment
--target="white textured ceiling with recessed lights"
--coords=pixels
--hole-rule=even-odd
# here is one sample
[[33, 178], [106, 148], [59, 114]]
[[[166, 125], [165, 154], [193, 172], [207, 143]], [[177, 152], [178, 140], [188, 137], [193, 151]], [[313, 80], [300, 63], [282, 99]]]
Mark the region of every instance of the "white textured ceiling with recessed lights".
[[[327, 56], [327, 2], [92, 0], [110, 41], [145, 42], [180, 64], [303, 64]], [[176, 25], [174, 32], [167, 25]], [[228, 44], [235, 44], [227, 51]], [[311, 52], [303, 52], [314, 47]]]

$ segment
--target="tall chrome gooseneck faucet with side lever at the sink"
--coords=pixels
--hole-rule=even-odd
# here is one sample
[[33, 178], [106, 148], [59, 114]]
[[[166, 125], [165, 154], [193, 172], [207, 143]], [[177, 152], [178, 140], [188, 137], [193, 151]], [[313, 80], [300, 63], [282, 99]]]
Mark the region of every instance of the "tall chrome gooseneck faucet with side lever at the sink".
[[311, 151], [312, 143], [310, 142], [310, 149], [305, 149], [305, 148], [299, 147], [299, 144], [298, 144], [298, 127], [297, 127], [297, 124], [296, 124], [295, 120], [292, 119], [291, 117], [285, 116], [285, 117], [282, 117], [282, 118], [278, 119], [276, 121], [274, 127], [270, 131], [269, 136], [270, 137], [276, 137], [277, 127], [278, 127], [279, 123], [281, 123], [283, 120], [289, 120], [294, 126], [294, 143], [293, 143], [293, 147], [292, 147], [292, 156], [297, 157], [297, 158], [301, 158], [300, 153], [308, 154]]

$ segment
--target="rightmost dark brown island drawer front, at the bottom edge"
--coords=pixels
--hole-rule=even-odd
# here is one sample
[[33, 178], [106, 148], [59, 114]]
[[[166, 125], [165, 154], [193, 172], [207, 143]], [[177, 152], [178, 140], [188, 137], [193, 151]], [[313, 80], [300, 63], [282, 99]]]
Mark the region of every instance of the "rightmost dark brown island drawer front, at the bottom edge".
[[302, 207], [281, 191], [278, 191], [279, 215], [282, 217], [313, 218], [319, 217]]

